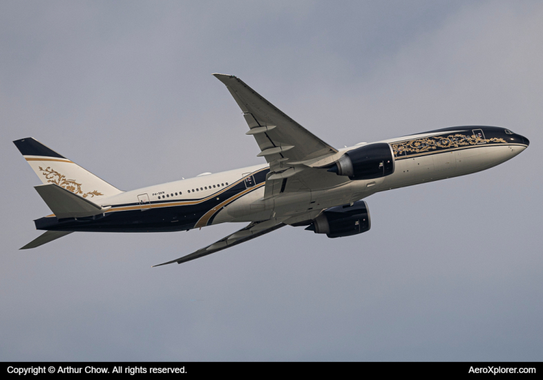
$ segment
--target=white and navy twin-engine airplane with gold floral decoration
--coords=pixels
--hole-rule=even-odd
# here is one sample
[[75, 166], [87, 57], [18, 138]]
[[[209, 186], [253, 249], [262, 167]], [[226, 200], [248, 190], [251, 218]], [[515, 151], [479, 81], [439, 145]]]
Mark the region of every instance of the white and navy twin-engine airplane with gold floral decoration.
[[76, 231], [164, 232], [248, 222], [191, 254], [186, 263], [284, 226], [339, 238], [371, 228], [365, 198], [374, 193], [495, 167], [524, 151], [528, 139], [497, 126], [453, 126], [335, 149], [234, 75], [213, 74], [241, 108], [266, 164], [121, 191], [32, 137], [16, 140], [43, 184], [35, 189], [52, 214], [46, 232], [21, 249]]

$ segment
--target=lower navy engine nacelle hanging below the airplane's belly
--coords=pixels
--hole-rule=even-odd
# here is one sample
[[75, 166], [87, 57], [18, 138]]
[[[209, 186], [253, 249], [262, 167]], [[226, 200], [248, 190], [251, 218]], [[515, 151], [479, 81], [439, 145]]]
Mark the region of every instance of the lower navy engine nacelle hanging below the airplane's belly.
[[368, 205], [358, 200], [351, 205], [330, 207], [323, 211], [306, 229], [329, 238], [362, 234], [372, 227]]

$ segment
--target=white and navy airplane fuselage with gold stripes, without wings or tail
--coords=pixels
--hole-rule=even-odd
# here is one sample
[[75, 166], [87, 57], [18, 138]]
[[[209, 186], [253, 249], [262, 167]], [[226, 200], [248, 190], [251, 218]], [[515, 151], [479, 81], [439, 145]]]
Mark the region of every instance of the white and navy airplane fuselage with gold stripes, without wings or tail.
[[[51, 215], [35, 224], [37, 229], [52, 231], [104, 232], [182, 231], [271, 218], [295, 224], [296, 218], [315, 218], [323, 209], [379, 191], [494, 167], [529, 144], [526, 137], [493, 126], [459, 126], [381, 142], [392, 149], [394, 172], [377, 179], [350, 180], [326, 167], [303, 166], [296, 178], [283, 179], [276, 196], [266, 199], [269, 164], [261, 164], [126, 191], [95, 200], [102, 207], [111, 207], [100, 215], [64, 219]], [[334, 157], [360, 146], [363, 144], [341, 149]], [[312, 175], [314, 171], [321, 175]]]

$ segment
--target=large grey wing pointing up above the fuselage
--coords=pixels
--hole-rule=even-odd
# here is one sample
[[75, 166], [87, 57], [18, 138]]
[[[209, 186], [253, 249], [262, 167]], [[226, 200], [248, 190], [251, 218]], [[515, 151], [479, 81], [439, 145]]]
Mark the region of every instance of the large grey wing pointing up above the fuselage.
[[337, 153], [337, 150], [316, 137], [281, 112], [256, 91], [233, 75], [213, 74], [224, 83], [243, 111], [249, 124], [247, 135], [253, 135], [271, 166], [274, 162], [300, 162]]

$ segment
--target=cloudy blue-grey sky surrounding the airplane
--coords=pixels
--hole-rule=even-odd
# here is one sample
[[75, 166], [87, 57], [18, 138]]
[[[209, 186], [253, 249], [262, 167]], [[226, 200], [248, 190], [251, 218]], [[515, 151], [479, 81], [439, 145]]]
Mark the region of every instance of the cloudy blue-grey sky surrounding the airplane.
[[[0, 360], [540, 361], [540, 1], [2, 1]], [[446, 126], [530, 139], [482, 173], [379, 193], [372, 229], [71, 234], [12, 140], [120, 189], [264, 162], [243, 79], [332, 146]]]

